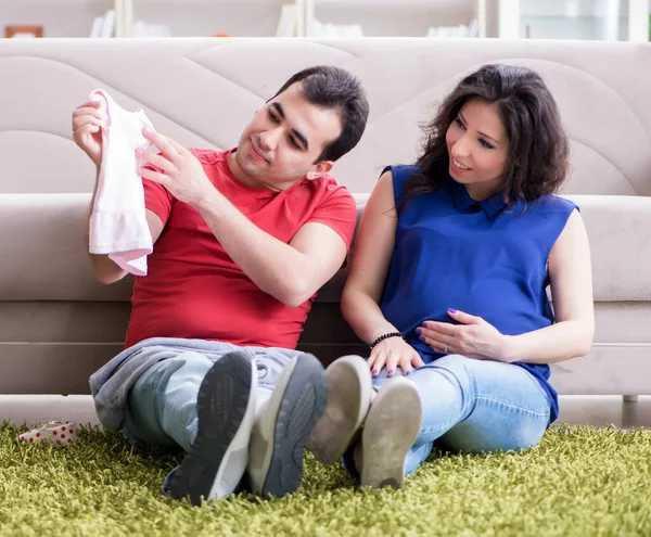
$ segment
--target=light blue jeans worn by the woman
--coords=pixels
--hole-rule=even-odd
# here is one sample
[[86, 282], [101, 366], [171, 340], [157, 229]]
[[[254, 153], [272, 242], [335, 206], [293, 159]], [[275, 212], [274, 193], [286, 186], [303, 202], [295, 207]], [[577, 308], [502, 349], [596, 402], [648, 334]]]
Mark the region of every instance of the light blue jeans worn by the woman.
[[[394, 376], [401, 374], [397, 368]], [[405, 475], [416, 472], [436, 439], [451, 451], [520, 450], [536, 445], [547, 430], [547, 395], [519, 366], [448, 355], [407, 379], [421, 397], [423, 419]], [[385, 368], [373, 386], [380, 389], [387, 380]]]

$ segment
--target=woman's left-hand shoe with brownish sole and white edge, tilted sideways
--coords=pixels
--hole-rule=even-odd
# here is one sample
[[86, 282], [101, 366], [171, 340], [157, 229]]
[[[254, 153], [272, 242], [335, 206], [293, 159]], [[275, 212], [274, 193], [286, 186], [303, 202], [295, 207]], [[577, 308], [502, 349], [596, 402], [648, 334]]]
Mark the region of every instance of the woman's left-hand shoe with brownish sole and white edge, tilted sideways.
[[371, 372], [363, 358], [344, 356], [326, 369], [328, 404], [307, 449], [324, 464], [340, 460], [359, 431], [371, 401]]

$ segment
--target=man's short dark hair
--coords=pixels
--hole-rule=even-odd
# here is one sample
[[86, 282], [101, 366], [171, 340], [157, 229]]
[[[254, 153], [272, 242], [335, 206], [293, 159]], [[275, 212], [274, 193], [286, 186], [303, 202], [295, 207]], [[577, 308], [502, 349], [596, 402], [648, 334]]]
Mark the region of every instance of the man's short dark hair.
[[337, 161], [357, 145], [366, 128], [369, 102], [361, 81], [341, 67], [317, 65], [296, 73], [271, 99], [297, 82], [301, 82], [301, 93], [309, 103], [339, 112], [342, 133], [326, 145], [316, 162]]

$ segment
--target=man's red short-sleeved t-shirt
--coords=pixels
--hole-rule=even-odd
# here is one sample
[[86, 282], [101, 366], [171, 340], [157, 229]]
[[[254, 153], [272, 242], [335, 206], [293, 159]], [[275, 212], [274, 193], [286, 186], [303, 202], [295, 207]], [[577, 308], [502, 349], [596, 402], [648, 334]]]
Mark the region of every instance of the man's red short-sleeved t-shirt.
[[[289, 243], [307, 222], [336, 231], [350, 246], [355, 201], [330, 176], [303, 179], [282, 192], [248, 187], [232, 175], [230, 151], [192, 150], [213, 184], [252, 222]], [[165, 225], [137, 277], [126, 346], [149, 337], [216, 340], [234, 345], [295, 348], [312, 296], [290, 308], [263, 292], [233, 263], [199, 212], [143, 179], [146, 208]]]

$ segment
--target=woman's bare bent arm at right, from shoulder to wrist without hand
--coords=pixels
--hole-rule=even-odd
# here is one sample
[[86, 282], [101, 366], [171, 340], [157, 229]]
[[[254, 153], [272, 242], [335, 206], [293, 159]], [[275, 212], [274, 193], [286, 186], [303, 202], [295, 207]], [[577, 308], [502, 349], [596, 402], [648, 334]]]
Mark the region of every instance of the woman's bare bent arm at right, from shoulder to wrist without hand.
[[553, 363], [585, 356], [595, 336], [590, 246], [583, 218], [574, 210], [549, 255], [556, 323], [508, 337], [505, 361]]

